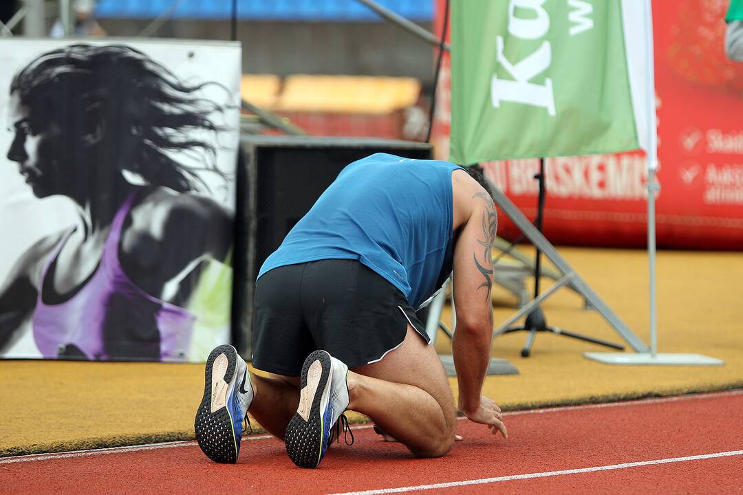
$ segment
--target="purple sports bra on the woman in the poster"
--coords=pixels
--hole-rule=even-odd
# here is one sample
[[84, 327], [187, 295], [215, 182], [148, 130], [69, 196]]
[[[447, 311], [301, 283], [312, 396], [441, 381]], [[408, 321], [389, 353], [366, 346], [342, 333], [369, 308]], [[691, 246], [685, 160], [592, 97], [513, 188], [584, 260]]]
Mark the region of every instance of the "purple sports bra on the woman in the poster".
[[71, 298], [61, 304], [45, 304], [42, 292], [49, 268], [74, 228], [62, 236], [42, 267], [32, 324], [36, 346], [45, 358], [56, 358], [71, 345], [88, 359], [109, 359], [107, 350], [111, 349], [119, 350], [116, 357], [137, 358], [142, 356], [129, 354], [136, 353], [142, 344], [152, 347], [159, 341], [160, 360], [185, 360], [195, 316], [144, 292], [119, 263], [121, 229], [135, 195], [130, 194], [114, 216], [99, 266]]

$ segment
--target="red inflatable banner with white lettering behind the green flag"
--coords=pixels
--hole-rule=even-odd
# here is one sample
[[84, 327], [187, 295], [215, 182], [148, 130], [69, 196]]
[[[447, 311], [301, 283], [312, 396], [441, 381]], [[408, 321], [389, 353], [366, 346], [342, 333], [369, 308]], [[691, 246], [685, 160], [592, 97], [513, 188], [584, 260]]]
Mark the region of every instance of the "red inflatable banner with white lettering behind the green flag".
[[[659, 247], [743, 249], [743, 63], [731, 62], [724, 52], [728, 4], [728, 0], [653, 2]], [[443, 8], [444, 1], [438, 1], [437, 33]], [[442, 159], [449, 152], [450, 88], [446, 56], [432, 139]], [[539, 160], [481, 165], [533, 219], [538, 190], [533, 175]], [[646, 246], [646, 168], [641, 151], [551, 158], [545, 161], [545, 180], [545, 235], [551, 242]], [[519, 235], [504, 215], [499, 235]]]

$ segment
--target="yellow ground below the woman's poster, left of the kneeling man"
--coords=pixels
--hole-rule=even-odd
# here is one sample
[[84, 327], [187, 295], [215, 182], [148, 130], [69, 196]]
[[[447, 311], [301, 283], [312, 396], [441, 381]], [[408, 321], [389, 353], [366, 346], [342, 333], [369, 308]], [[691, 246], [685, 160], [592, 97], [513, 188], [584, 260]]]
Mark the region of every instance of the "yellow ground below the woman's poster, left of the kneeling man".
[[0, 455], [192, 439], [204, 365], [0, 361], [0, 387]]

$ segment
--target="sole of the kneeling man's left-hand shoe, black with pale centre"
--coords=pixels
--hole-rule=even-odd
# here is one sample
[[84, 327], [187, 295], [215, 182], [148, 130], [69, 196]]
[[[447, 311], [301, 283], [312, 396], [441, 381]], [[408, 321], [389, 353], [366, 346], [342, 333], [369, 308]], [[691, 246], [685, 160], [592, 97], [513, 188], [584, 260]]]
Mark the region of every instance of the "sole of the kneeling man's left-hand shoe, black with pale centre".
[[238, 445], [233, 418], [227, 407], [227, 391], [237, 368], [234, 347], [215, 348], [207, 359], [204, 398], [196, 411], [194, 430], [201, 451], [214, 462], [237, 462]]

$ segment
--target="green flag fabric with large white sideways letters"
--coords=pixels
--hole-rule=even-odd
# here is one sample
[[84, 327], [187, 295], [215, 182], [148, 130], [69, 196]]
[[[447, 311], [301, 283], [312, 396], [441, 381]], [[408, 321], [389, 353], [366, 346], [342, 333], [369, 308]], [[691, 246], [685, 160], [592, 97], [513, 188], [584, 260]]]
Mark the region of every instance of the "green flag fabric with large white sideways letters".
[[451, 16], [453, 162], [640, 148], [620, 0], [454, 0]]

